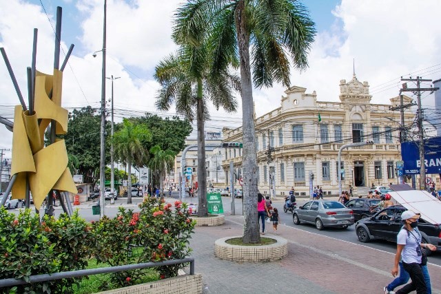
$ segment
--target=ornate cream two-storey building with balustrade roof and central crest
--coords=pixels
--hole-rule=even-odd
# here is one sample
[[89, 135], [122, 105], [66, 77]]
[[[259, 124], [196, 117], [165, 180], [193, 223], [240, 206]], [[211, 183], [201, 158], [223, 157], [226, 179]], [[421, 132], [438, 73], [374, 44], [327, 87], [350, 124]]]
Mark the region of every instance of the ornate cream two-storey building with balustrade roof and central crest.
[[[260, 191], [286, 195], [294, 187], [297, 195], [309, 195], [309, 174], [313, 173], [314, 186], [336, 195], [339, 149], [368, 140], [373, 144], [342, 151], [342, 189], [351, 185], [363, 190], [397, 182], [400, 112], [389, 108], [400, 105], [399, 96], [389, 104], [371, 104], [369, 83], [361, 83], [355, 74], [349, 82], [340, 81], [340, 102], [317, 101], [315, 91], [307, 94], [297, 86], [285, 94], [280, 107], [255, 118]], [[410, 102], [411, 98], [404, 96], [404, 104]], [[413, 118], [407, 109], [404, 125]], [[242, 136], [242, 127], [223, 129], [224, 141], [240, 141]], [[241, 150], [225, 149], [223, 169], [227, 171], [232, 160], [240, 173], [241, 155]]]

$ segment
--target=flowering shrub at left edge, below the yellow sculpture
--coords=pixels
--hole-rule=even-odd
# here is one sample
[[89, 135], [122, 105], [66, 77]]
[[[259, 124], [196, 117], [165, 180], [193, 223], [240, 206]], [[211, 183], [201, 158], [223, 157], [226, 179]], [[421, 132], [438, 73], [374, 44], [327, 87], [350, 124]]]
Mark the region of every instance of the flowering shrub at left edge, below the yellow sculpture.
[[[58, 219], [23, 209], [18, 216], [0, 208], [0, 280], [85, 269], [94, 237], [75, 211]], [[0, 293], [73, 293], [81, 277], [0, 288]]]

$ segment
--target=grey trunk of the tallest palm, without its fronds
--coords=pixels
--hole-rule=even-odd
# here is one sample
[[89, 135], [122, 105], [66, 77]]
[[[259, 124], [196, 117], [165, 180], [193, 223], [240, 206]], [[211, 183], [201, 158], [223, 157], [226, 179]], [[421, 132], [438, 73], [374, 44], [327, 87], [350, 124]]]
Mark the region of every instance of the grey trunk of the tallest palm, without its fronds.
[[[243, 205], [245, 224], [244, 243], [260, 242], [257, 213], [257, 158], [253, 118], [253, 88], [249, 64], [249, 32], [246, 28], [245, 0], [240, 0], [235, 15], [240, 57], [240, 81], [243, 119]], [[232, 191], [233, 193], [233, 191]]]

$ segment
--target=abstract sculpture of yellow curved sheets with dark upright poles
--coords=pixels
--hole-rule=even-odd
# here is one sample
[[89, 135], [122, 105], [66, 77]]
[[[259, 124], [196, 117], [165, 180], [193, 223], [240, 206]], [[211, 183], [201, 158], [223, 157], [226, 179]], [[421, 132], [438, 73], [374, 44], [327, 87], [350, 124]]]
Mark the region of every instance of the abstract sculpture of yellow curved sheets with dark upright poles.
[[[8, 67], [21, 105], [14, 109], [14, 123], [0, 116], [3, 123], [12, 130], [12, 167], [11, 180], [6, 189], [6, 196], [1, 199], [3, 205], [12, 191], [12, 198], [25, 199], [29, 208], [30, 193], [35, 208], [40, 209], [43, 200], [48, 197], [52, 202], [53, 192], [69, 191], [77, 193], [72, 174], [68, 169], [68, 153], [64, 140], [57, 140], [56, 135], [68, 132], [68, 111], [61, 107], [63, 69], [68, 62], [74, 45], [70, 45], [63, 65], [59, 67], [61, 42], [61, 7], [57, 7], [57, 25], [55, 30], [54, 72], [52, 75], [38, 72], [35, 68], [37, 58], [37, 32], [34, 29], [34, 47], [32, 50], [32, 67], [28, 67], [28, 106], [26, 106], [17, 78], [6, 55], [0, 48], [1, 55]], [[50, 126], [50, 144], [45, 146], [45, 131]], [[58, 194], [60, 195], [60, 194]], [[66, 195], [66, 200], [68, 200]], [[72, 213], [68, 202], [60, 198], [61, 206], [66, 213]], [[45, 213], [53, 215], [52, 203], [48, 203]]]

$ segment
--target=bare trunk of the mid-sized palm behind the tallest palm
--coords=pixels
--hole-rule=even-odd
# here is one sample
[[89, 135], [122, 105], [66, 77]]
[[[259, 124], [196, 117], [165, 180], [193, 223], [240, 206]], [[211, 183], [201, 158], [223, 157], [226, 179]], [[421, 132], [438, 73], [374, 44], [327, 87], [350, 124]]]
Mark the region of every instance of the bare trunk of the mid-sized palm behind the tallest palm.
[[207, 210], [207, 170], [205, 169], [204, 101], [202, 80], [198, 78], [198, 216], [208, 216]]

